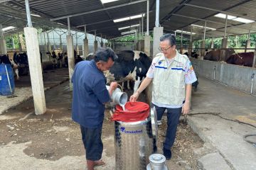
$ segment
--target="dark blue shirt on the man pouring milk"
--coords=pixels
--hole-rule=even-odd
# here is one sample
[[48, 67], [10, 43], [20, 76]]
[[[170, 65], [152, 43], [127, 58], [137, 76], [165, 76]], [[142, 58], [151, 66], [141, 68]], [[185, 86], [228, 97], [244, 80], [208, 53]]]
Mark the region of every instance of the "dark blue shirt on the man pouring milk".
[[76, 64], [73, 77], [72, 119], [85, 128], [103, 123], [105, 105], [110, 101], [106, 78], [94, 60]]

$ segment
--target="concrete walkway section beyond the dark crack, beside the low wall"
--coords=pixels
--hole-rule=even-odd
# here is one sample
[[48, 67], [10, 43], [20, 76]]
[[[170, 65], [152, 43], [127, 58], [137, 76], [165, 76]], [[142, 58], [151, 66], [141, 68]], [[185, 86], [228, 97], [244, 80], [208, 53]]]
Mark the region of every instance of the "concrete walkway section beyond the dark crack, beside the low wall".
[[221, 113], [225, 118], [256, 126], [256, 97], [199, 77], [191, 113]]

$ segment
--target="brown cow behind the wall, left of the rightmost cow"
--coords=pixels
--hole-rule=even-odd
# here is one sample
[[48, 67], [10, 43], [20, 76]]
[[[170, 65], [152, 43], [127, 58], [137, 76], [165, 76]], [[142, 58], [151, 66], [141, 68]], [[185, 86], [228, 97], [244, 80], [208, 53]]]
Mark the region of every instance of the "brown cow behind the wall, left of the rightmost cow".
[[[235, 50], [233, 49], [225, 49], [225, 50], [211, 50], [210, 52], [206, 53], [206, 56], [203, 57], [203, 60], [210, 60], [210, 61], [215, 61], [218, 62], [220, 61], [220, 54], [221, 52], [225, 52], [225, 56], [230, 56], [232, 54], [235, 53]], [[224, 57], [224, 60], [226, 59], [226, 57]]]

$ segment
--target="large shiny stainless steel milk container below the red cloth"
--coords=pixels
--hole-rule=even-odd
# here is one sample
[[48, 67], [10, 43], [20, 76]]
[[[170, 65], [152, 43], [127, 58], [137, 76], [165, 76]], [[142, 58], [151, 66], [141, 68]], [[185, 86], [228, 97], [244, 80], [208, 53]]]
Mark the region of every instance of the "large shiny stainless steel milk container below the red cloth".
[[145, 170], [153, 152], [151, 118], [133, 123], [115, 121], [114, 127], [115, 169]]

